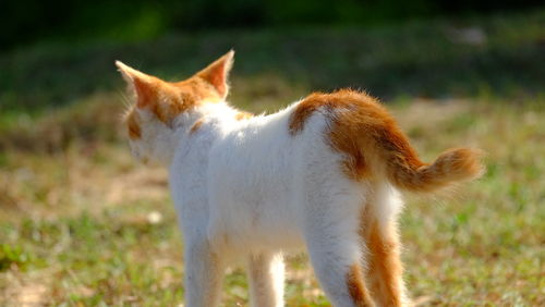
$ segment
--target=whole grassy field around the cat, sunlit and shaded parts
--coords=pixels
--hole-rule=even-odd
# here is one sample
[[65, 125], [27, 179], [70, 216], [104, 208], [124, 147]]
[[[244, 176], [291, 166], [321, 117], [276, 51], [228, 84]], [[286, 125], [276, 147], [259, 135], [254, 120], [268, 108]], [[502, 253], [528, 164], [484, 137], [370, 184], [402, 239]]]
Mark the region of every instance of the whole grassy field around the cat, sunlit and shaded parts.
[[[130, 157], [120, 59], [181, 78], [234, 47], [233, 105], [272, 112], [311, 90], [380, 97], [425, 160], [487, 152], [449, 196], [407, 195], [405, 280], [422, 306], [545, 305], [545, 11], [376, 28], [172, 34], [0, 53], [0, 305], [183, 303], [166, 171]], [[324, 46], [335, 46], [325, 48]], [[327, 306], [304, 255], [288, 306]], [[226, 306], [246, 305], [243, 270]]]

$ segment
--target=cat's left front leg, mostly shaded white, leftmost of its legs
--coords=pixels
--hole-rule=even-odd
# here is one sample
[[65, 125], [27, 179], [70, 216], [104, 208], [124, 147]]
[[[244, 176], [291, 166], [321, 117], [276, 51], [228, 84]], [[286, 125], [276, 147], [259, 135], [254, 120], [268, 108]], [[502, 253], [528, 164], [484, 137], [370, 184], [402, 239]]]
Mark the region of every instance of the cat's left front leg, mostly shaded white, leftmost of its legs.
[[185, 306], [218, 306], [223, 263], [206, 238], [185, 243]]

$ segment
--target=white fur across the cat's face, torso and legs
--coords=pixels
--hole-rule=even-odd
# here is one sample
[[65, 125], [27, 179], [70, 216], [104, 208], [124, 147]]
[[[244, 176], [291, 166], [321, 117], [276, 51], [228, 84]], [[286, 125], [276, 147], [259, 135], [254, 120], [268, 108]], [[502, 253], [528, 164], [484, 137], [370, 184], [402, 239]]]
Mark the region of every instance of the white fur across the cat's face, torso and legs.
[[[305, 245], [331, 303], [353, 306], [346, 277], [353, 263], [365, 266], [358, 229], [371, 185], [341, 172], [343, 157], [327, 144], [320, 112], [290, 135], [294, 106], [237, 121], [227, 103], [205, 103], [172, 126], [142, 125], [133, 154], [170, 170], [185, 245], [186, 306], [218, 304], [225, 267], [241, 259], [247, 260], [252, 304], [283, 306], [280, 253]], [[198, 119], [204, 123], [190, 133]], [[378, 195], [386, 223], [401, 201], [388, 184]]]

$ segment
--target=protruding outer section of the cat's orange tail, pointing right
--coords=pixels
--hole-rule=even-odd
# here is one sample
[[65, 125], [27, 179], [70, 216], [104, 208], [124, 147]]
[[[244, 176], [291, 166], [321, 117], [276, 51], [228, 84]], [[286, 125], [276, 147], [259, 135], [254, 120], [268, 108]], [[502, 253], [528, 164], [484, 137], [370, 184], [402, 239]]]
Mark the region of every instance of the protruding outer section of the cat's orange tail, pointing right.
[[474, 180], [484, 173], [482, 151], [469, 148], [443, 152], [432, 164], [390, 164], [389, 177], [403, 189], [434, 192], [458, 182]]

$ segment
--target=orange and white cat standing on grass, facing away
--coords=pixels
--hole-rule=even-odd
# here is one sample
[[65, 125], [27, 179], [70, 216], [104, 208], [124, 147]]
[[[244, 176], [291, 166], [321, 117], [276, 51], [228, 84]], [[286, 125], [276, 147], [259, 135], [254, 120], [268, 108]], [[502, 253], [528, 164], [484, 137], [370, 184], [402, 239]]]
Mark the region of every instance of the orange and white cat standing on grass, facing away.
[[387, 110], [350, 89], [252, 115], [226, 102], [231, 50], [170, 83], [116, 62], [134, 103], [132, 155], [169, 169], [183, 233], [185, 306], [217, 306], [244, 260], [252, 306], [283, 306], [282, 253], [306, 247], [335, 306], [404, 306], [399, 191], [431, 193], [483, 173], [480, 151], [422, 162]]

